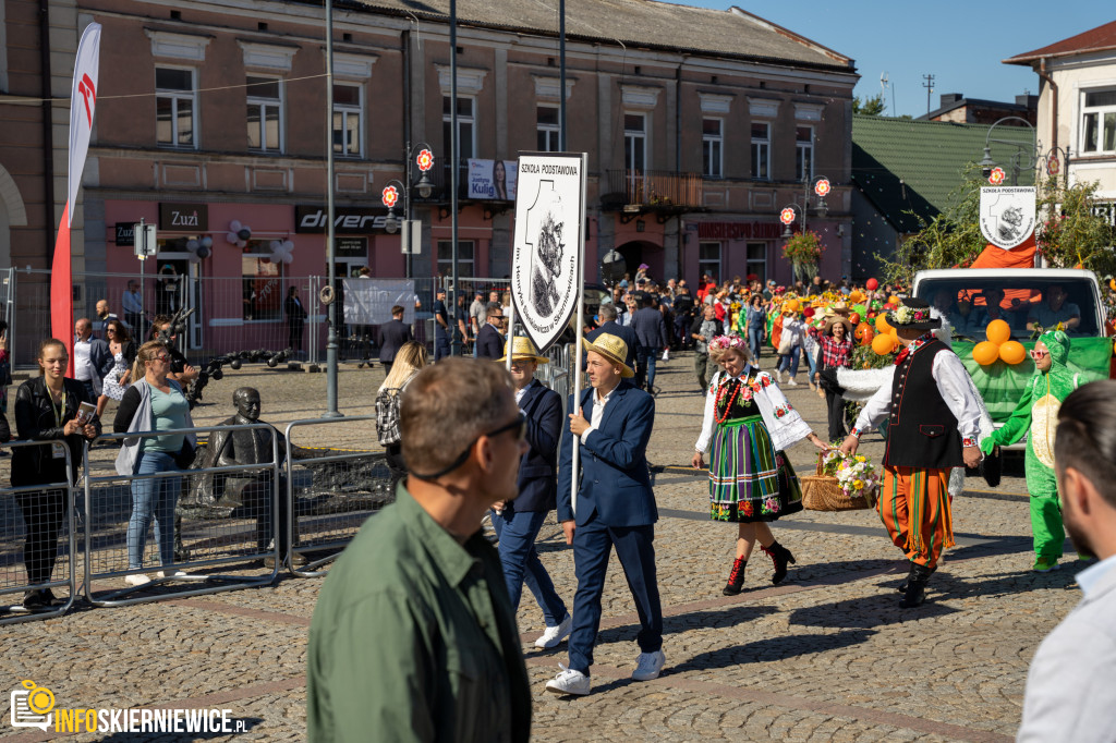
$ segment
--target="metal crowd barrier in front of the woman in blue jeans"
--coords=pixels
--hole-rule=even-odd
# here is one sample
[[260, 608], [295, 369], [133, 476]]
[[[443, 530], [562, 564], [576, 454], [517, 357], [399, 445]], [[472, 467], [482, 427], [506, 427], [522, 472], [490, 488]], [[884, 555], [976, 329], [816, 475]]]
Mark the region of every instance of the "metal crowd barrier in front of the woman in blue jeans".
[[[266, 586], [279, 575], [279, 519], [281, 477], [279, 443], [276, 430], [264, 423], [233, 426], [208, 426], [161, 432], [106, 434], [96, 442], [127, 438], [152, 438], [160, 435], [221, 431], [231, 437], [237, 432], [271, 433], [271, 462], [232, 466], [194, 466], [154, 474], [118, 475], [114, 463], [97, 462], [90, 466], [89, 444], [83, 453], [85, 469], [85, 596], [98, 607], [126, 606], [153, 601], [169, 596], [184, 597], [218, 591]], [[199, 447], [198, 456], [202, 452]], [[115, 460], [115, 456], [113, 457]], [[215, 461], [215, 460], [214, 460]], [[198, 462], [195, 461], [195, 464]], [[105, 473], [105, 471], [108, 471]], [[129, 569], [127, 538], [133, 515], [133, 486], [144, 481], [160, 482], [179, 479], [173, 517], [170, 524], [158, 520], [154, 509], [152, 524], [160, 531], [174, 531], [175, 556], [172, 565], [158, 565], [156, 539], [146, 540], [143, 563]], [[240, 490], [240, 495], [235, 491]], [[230, 492], [231, 491], [231, 492]], [[285, 504], [285, 503], [283, 503]], [[163, 509], [163, 517], [169, 511]], [[152, 553], [154, 552], [154, 560]], [[260, 573], [264, 560], [272, 566]], [[221, 567], [223, 573], [203, 571]], [[96, 592], [94, 583], [119, 581], [126, 576], [158, 571], [150, 582]], [[180, 589], [182, 586], [195, 586]], [[140, 596], [134, 596], [140, 594]]]

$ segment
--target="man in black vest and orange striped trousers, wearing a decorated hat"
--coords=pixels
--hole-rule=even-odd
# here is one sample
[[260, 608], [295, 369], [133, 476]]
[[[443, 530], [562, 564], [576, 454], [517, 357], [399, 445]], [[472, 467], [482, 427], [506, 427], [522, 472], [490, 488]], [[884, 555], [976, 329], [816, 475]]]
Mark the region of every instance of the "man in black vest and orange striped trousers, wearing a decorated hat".
[[904, 299], [887, 322], [903, 345], [895, 375], [865, 404], [841, 451], [855, 454], [862, 434], [889, 416], [877, 509], [911, 561], [899, 604], [911, 608], [925, 599], [942, 550], [953, 547], [946, 484], [951, 469], [980, 464], [981, 407], [961, 359], [934, 336], [941, 319], [925, 300]]

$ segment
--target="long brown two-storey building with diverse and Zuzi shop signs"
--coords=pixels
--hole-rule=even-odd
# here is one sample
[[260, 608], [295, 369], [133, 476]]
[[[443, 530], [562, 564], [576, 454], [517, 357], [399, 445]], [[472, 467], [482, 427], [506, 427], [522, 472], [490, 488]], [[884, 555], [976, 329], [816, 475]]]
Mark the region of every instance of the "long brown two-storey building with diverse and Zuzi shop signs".
[[[327, 117], [320, 7], [80, 0], [73, 38], [92, 20], [104, 27], [80, 264], [109, 274], [104, 292], [118, 297], [140, 270], [131, 225], [157, 224], [150, 301], [177, 287], [203, 309], [190, 345], [227, 350], [212, 328], [277, 324], [288, 287], [326, 272], [331, 142], [339, 276], [365, 266], [377, 277], [449, 274], [456, 178], [459, 274], [504, 277], [513, 161], [559, 148], [565, 93], [566, 148], [589, 160], [587, 280], [615, 249], [657, 279], [788, 281], [778, 215], [800, 209], [804, 180], [822, 175], [828, 212], [810, 193], [807, 228], [822, 235], [822, 273], [849, 272], [852, 59], [735, 9], [570, 0], [562, 91], [551, 11], [461, 2], [454, 102], [448, 4], [335, 10]], [[417, 167], [404, 183], [422, 149], [435, 162], [426, 196]], [[410, 266], [381, 203], [389, 184], [401, 194], [392, 215], [422, 223]], [[272, 260], [273, 243], [287, 241], [287, 262]]]

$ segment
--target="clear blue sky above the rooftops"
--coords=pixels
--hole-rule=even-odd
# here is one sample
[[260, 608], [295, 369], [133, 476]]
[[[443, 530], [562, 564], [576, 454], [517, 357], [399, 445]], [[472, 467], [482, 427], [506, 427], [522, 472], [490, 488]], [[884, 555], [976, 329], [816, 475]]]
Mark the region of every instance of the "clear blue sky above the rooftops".
[[[668, 0], [673, 1], [673, 0]], [[856, 60], [856, 95], [879, 93], [887, 73], [888, 116], [926, 113], [923, 75], [934, 75], [931, 107], [942, 93], [1014, 100], [1038, 93], [1038, 76], [1000, 60], [1045, 47], [1113, 20], [1094, 0], [686, 0], [727, 10], [737, 6]], [[895, 87], [892, 107], [891, 85]]]

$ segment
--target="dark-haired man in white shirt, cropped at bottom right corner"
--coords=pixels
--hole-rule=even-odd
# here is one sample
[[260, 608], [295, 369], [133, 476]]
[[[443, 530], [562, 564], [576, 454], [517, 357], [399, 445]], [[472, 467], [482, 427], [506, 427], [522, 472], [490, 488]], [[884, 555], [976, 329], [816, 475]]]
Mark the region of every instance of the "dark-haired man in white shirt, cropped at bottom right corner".
[[1077, 573], [1081, 602], [1039, 646], [1020, 743], [1116, 739], [1116, 382], [1071, 393], [1058, 411], [1055, 471], [1066, 531], [1099, 562]]

